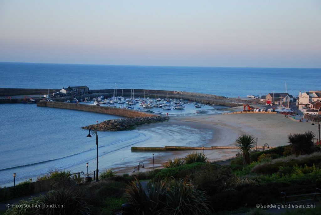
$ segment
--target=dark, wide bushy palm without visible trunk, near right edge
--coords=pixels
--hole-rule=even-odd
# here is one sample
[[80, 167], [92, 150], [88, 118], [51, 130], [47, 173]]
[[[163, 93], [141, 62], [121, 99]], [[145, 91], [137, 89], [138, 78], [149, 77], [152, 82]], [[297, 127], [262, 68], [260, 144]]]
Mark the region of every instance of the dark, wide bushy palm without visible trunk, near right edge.
[[315, 134], [312, 131], [290, 134], [288, 139], [292, 153], [296, 156], [312, 153], [314, 137]]

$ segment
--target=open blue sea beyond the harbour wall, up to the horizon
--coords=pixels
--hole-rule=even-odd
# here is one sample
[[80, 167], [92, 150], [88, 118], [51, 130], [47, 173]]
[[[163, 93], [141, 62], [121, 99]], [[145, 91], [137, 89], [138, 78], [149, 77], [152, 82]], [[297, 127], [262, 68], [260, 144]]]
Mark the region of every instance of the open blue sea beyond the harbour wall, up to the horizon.
[[156, 89], [225, 97], [321, 90], [321, 69], [0, 63], [0, 88]]

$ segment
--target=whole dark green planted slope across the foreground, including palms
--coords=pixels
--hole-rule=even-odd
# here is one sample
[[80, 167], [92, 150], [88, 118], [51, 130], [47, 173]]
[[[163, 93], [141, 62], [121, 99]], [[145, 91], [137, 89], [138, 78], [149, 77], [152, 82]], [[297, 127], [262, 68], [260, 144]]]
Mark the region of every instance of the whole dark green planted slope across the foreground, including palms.
[[[301, 139], [293, 140], [294, 137]], [[100, 174], [99, 182], [89, 185], [77, 183], [68, 171], [60, 171], [49, 176], [55, 179], [54, 191], [20, 203], [55, 201], [68, 205], [63, 211], [28, 208], [29, 214], [116, 214], [126, 202], [132, 204], [134, 214], [245, 212], [256, 204], [279, 203], [279, 187], [304, 184], [321, 187], [320, 147], [311, 144], [309, 137], [309, 133], [293, 134], [288, 146], [251, 151], [253, 137], [247, 136], [239, 138], [242, 153], [230, 165], [210, 163], [203, 153], [192, 153], [184, 159], [169, 160], [166, 168], [133, 176], [119, 176], [107, 170]], [[304, 150], [293, 146], [298, 141]], [[9, 209], [5, 214], [19, 214], [19, 210]], [[317, 214], [317, 210], [306, 212]], [[302, 210], [296, 213], [304, 214]]]

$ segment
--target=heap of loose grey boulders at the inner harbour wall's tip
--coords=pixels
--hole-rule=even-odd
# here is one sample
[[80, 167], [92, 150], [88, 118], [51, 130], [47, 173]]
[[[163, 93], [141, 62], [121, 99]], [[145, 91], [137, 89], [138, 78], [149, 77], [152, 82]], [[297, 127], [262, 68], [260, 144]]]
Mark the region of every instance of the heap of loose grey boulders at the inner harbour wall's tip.
[[90, 127], [97, 128], [97, 131], [125, 131], [133, 130], [137, 125], [146, 123], [159, 123], [168, 121], [168, 116], [150, 116], [150, 117], [135, 117], [124, 119], [110, 119], [99, 124], [84, 126], [82, 129], [89, 129]]

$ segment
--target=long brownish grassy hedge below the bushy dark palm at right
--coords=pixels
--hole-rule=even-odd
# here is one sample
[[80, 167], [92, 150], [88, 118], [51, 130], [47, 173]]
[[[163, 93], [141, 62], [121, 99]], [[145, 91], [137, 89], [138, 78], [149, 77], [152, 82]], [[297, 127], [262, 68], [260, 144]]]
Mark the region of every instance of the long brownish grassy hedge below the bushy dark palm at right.
[[269, 162], [263, 162], [253, 167], [252, 172], [262, 174], [273, 174], [281, 167], [292, 167], [297, 164], [299, 166], [306, 164], [312, 166], [313, 164], [321, 163], [321, 152], [315, 152], [310, 155], [301, 155], [299, 157], [288, 156], [285, 158], [274, 159]]

